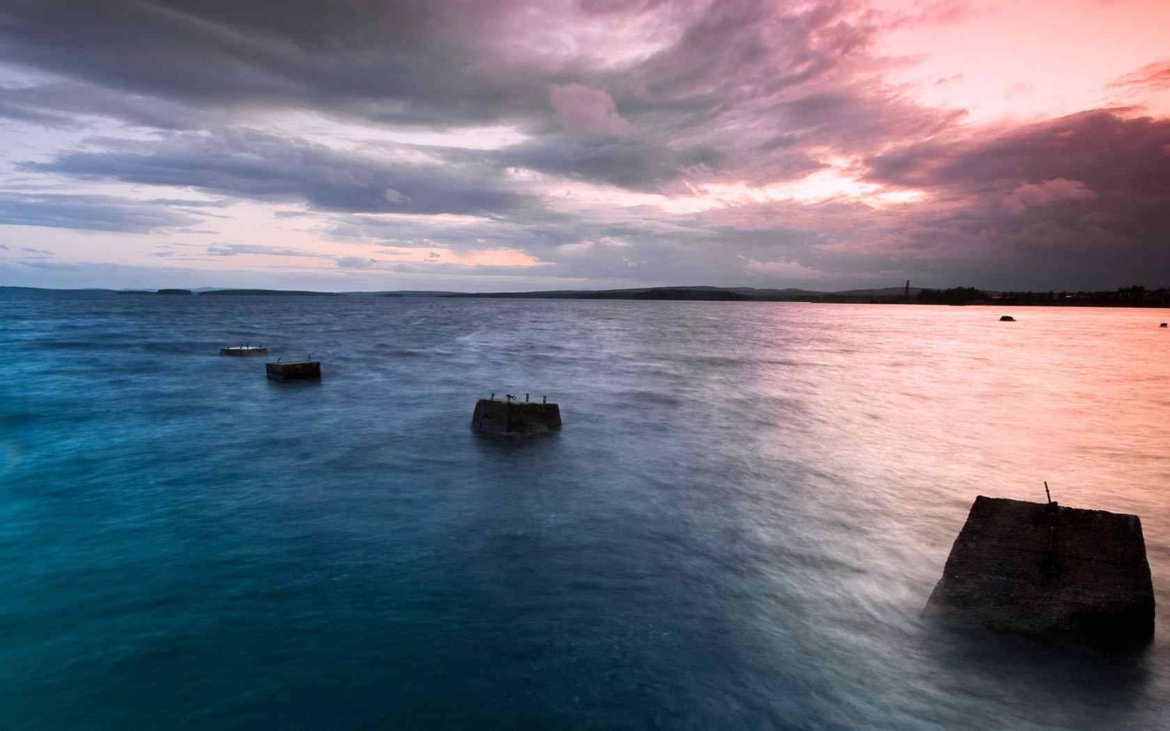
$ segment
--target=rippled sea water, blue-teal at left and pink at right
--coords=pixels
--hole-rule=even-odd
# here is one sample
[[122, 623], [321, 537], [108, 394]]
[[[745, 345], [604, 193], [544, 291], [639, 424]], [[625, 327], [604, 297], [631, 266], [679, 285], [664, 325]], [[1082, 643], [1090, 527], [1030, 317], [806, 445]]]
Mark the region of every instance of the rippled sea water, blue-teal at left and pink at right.
[[[1166, 729], [1168, 317], [1000, 313], [0, 290], [0, 727]], [[1144, 651], [921, 622], [1045, 480]]]

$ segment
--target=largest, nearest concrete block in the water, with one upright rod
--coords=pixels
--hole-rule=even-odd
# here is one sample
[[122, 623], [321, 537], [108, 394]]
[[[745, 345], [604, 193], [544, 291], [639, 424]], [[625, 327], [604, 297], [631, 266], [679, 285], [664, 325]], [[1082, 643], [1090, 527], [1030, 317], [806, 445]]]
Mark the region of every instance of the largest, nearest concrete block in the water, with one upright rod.
[[978, 496], [922, 612], [950, 623], [1117, 646], [1154, 636], [1137, 516]]

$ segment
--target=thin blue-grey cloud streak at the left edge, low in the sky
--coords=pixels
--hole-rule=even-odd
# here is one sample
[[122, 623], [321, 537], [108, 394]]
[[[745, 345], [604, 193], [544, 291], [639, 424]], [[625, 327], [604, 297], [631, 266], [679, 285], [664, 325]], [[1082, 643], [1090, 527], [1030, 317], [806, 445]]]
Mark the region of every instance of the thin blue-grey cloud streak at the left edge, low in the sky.
[[0, 193], [0, 223], [145, 233], [198, 223], [186, 213], [113, 195]]

